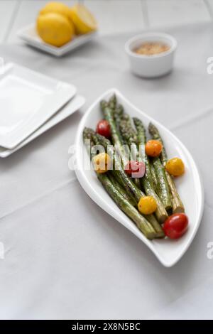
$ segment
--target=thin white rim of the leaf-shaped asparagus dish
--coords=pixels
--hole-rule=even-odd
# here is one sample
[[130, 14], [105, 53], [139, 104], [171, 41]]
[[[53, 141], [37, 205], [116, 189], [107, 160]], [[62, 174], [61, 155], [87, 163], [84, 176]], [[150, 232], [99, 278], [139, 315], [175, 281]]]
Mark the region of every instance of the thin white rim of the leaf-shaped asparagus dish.
[[[169, 260], [169, 261], [166, 260], [165, 258], [161, 257], [159, 252], [157, 251], [157, 249], [155, 249], [153, 241], [150, 241], [150, 240], [146, 239], [146, 237], [137, 229], [137, 227], [136, 228], [134, 227], [135, 225], [132, 224], [131, 227], [129, 226], [129, 222], [131, 220], [129, 220], [129, 217], [127, 217], [124, 214], [124, 212], [121, 212], [121, 210], [119, 210], [118, 208], [116, 208], [116, 209], [111, 208], [110, 201], [108, 203], [108, 201], [102, 199], [101, 195], [97, 192], [97, 190], [92, 187], [91, 183], [89, 183], [89, 180], [88, 180], [88, 178], [87, 178], [87, 176], [84, 172], [84, 168], [82, 166], [83, 159], [82, 159], [82, 156], [81, 156], [81, 154], [82, 154], [81, 150], [77, 150], [77, 155], [76, 155], [77, 168], [75, 170], [75, 173], [76, 173], [77, 179], [80, 182], [80, 184], [82, 185], [82, 188], [84, 188], [86, 193], [89, 195], [89, 197], [92, 198], [92, 200], [94, 200], [94, 202], [97, 203], [97, 205], [99, 205], [103, 210], [108, 212], [109, 215], [111, 215], [116, 220], [118, 220], [122, 225], [124, 225], [125, 227], [128, 226], [127, 228], [129, 230], [131, 230], [131, 232], [133, 232], [133, 234], [136, 235], [139, 239], [141, 239], [148, 246], [149, 249], [151, 249], [151, 251], [155, 254], [155, 256], [158, 258], [160, 263], [163, 264], [163, 266], [166, 266], [166, 267], [174, 266], [181, 259], [183, 254], [185, 254], [188, 247], [190, 247], [190, 244], [192, 243], [192, 240], [194, 239], [194, 237], [197, 233], [198, 227], [200, 226], [200, 221], [201, 221], [201, 218], [202, 218], [202, 212], [203, 212], [203, 208], [204, 208], [204, 190], [203, 190], [203, 185], [202, 185], [202, 181], [201, 181], [201, 178], [200, 178], [200, 173], [197, 169], [195, 161], [193, 160], [190, 152], [186, 149], [186, 147], [182, 144], [182, 142], [174, 134], [172, 134], [168, 129], [166, 129], [165, 126], [163, 126], [159, 122], [156, 122], [154, 119], [149, 117], [145, 112], [141, 112], [140, 109], [133, 106], [133, 104], [131, 104], [131, 102], [129, 102], [129, 100], [127, 100], [121, 94], [121, 92], [119, 92], [119, 90], [117, 90], [116, 88], [111, 88], [110, 90], [107, 90], [107, 92], [104, 92], [104, 94], [101, 97], [99, 97], [92, 104], [92, 106], [89, 107], [87, 112], [84, 114], [84, 117], [82, 117], [80, 125], [77, 129], [77, 135], [76, 135], [76, 141], [75, 141], [76, 147], [82, 146], [82, 131], [84, 129], [84, 126], [87, 126], [87, 118], [88, 118], [89, 114], [92, 112], [94, 107], [96, 107], [97, 104], [99, 104], [99, 102], [102, 99], [104, 99], [104, 98], [106, 98], [109, 95], [112, 95], [114, 93], [120, 99], [123, 99], [126, 102], [126, 104], [129, 104], [129, 106], [131, 108], [135, 109], [136, 112], [140, 112], [141, 117], [143, 117], [143, 116], [146, 117], [151, 122], [154, 122], [154, 124], [156, 126], [160, 126], [161, 129], [163, 129], [164, 131], [167, 131], [168, 134], [170, 136], [172, 136], [173, 139], [175, 139], [175, 141], [181, 147], [182, 151], [184, 151], [187, 158], [190, 159], [190, 163], [192, 164], [192, 167], [193, 167], [193, 172], [196, 174], [197, 183], [199, 185], [198, 188], [200, 189], [200, 208], [199, 208], [199, 213], [198, 213], [198, 216], [197, 216], [197, 222], [195, 223], [195, 227], [194, 227], [192, 233], [190, 234], [189, 239], [187, 240], [187, 244], [185, 245], [185, 247], [182, 247], [182, 252], [180, 252], [177, 257], [175, 257], [175, 258], [173, 258], [172, 260]], [[111, 200], [111, 198], [109, 198], [109, 199]]]

